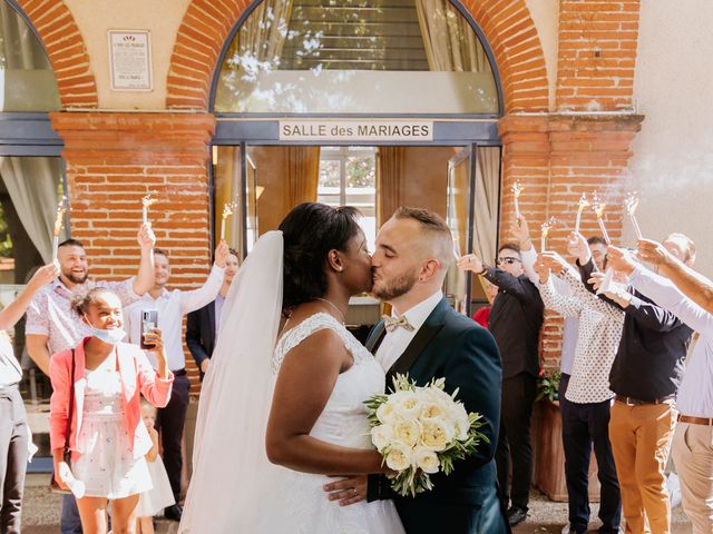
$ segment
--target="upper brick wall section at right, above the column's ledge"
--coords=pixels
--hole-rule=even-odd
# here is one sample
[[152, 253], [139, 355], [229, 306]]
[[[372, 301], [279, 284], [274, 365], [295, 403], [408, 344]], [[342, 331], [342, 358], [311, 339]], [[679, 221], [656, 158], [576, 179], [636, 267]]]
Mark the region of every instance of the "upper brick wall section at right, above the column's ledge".
[[557, 109], [632, 109], [639, 0], [560, 0], [559, 10]]

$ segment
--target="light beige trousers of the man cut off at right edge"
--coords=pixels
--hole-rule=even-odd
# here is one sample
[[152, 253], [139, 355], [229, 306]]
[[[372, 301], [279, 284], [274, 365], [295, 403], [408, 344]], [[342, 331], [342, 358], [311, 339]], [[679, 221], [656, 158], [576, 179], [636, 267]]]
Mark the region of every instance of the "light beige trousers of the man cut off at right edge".
[[713, 532], [713, 426], [678, 423], [673, 462], [694, 534]]

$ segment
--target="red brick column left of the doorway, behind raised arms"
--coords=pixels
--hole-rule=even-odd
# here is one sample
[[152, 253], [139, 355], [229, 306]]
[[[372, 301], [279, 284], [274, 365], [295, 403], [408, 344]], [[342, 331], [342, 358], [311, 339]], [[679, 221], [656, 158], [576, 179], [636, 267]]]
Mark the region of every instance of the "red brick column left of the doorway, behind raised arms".
[[[201, 285], [211, 261], [207, 113], [51, 113], [65, 141], [71, 236], [85, 244], [90, 273], [136, 274], [141, 197], [167, 250], [174, 287]], [[192, 363], [191, 359], [187, 360]], [[194, 377], [195, 378], [195, 377]]]

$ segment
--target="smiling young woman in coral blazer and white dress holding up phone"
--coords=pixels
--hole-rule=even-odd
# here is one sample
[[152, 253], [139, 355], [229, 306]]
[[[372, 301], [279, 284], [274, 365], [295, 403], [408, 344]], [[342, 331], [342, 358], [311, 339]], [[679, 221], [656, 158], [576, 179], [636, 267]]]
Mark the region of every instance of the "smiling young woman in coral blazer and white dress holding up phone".
[[[141, 423], [140, 395], [156, 406], [166, 406], [174, 376], [166, 365], [158, 328], [145, 334], [146, 343], [153, 346], [157, 370], [138, 346], [119, 343], [125, 333], [121, 300], [116, 294], [92, 288], [77, 296], [72, 308], [91, 327], [91, 336], [74, 350], [52, 355], [50, 360], [55, 476], [65, 488], [59, 464], [71, 409], [71, 471], [86, 487], [85, 495], [77, 498], [82, 530], [85, 534], [106, 534], [109, 501], [114, 533], [127, 534], [136, 525], [139, 494], [152, 488], [145, 455], [153, 443]], [[72, 406], [70, 388], [75, 390]]]

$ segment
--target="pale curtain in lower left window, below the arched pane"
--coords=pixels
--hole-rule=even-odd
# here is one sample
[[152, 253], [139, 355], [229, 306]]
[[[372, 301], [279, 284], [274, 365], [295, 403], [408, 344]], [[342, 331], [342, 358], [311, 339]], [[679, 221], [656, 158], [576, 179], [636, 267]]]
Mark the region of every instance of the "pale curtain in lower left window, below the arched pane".
[[59, 158], [0, 159], [0, 176], [22, 226], [45, 263], [52, 259], [52, 230], [57, 210]]

